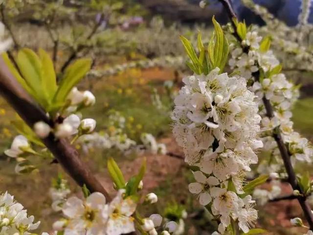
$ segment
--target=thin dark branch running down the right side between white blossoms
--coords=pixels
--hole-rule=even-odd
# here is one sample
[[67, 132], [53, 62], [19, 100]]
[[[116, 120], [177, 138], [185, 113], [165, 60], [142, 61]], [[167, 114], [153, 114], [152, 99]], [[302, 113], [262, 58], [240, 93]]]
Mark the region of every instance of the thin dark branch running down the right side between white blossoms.
[[[234, 18], [237, 19], [237, 17], [236, 17], [236, 14], [235, 14], [232, 6], [231, 6], [230, 0], [219, 0], [219, 1], [225, 7], [227, 14], [228, 14], [228, 16], [232, 22], [232, 25], [234, 26], [234, 31], [236, 32], [236, 25], [234, 24], [233, 19]], [[239, 39], [237, 38], [237, 40], [239, 40], [239, 43], [241, 45], [242, 40], [240, 39], [240, 37], [239, 37]], [[258, 64], [257, 64], [257, 66], [259, 67]], [[256, 81], [259, 81], [259, 79], [260, 79], [260, 73], [259, 72], [255, 72], [252, 75]], [[274, 117], [273, 107], [272, 107], [270, 101], [265, 96], [262, 98], [262, 100], [263, 100], [268, 118], [273, 118]], [[283, 159], [283, 162], [284, 162], [284, 165], [286, 168], [286, 172], [288, 174], [288, 182], [291, 184], [291, 187], [293, 188], [293, 190], [299, 190], [300, 194], [304, 195], [302, 189], [299, 187], [295, 172], [294, 172], [293, 167], [291, 165], [291, 155], [288, 152], [288, 149], [287, 149], [284, 141], [282, 140], [282, 135], [280, 133], [279, 128], [276, 128], [274, 130], [273, 138], [277, 142], [281, 157]], [[313, 213], [311, 212], [310, 205], [306, 201], [306, 196], [297, 197], [297, 199], [298, 199], [298, 202], [302, 208], [304, 216], [310, 225], [310, 229], [313, 230]]]

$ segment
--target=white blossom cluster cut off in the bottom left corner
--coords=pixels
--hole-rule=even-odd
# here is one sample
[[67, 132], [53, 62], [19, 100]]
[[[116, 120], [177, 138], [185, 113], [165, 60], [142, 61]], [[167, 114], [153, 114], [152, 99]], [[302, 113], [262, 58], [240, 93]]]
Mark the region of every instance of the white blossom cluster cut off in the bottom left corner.
[[11, 194], [0, 194], [0, 235], [30, 235], [38, 228], [40, 222], [33, 223], [34, 216], [28, 216], [23, 208]]

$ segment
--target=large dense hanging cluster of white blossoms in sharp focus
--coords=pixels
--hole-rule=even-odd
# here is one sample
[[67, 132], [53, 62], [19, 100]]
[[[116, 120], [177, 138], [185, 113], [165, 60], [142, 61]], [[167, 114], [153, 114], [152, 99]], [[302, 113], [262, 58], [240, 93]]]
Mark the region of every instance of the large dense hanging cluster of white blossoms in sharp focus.
[[232, 218], [246, 233], [257, 211], [251, 196], [238, 195], [244, 193], [244, 172], [258, 161], [254, 151], [263, 146], [257, 140], [261, 117], [246, 79], [219, 71], [183, 79], [185, 86], [175, 98], [173, 133], [185, 162], [200, 169], [193, 172], [197, 182], [189, 190], [220, 218], [219, 232]]

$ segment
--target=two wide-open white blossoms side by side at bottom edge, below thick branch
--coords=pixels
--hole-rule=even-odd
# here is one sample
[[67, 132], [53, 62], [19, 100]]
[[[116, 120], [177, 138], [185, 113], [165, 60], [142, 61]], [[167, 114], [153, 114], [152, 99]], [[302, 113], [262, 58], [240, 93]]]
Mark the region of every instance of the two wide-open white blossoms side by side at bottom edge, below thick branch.
[[124, 197], [120, 189], [116, 197], [106, 204], [106, 198], [99, 192], [90, 194], [86, 200], [70, 197], [62, 207], [64, 219], [56, 221], [53, 228], [64, 235], [120, 235], [135, 231], [134, 218], [136, 203]]

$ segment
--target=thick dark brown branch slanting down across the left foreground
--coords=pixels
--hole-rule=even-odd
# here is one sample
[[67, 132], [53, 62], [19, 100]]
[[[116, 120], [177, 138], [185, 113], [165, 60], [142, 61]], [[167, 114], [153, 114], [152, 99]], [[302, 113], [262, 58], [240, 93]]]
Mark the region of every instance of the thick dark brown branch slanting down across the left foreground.
[[[45, 111], [33, 102], [8, 70], [2, 58], [0, 58], [0, 94], [31, 128], [38, 121], [45, 121], [53, 127], [53, 121], [47, 118]], [[110, 200], [107, 190], [81, 161], [77, 150], [67, 139], [57, 140], [51, 133], [43, 142], [78, 185], [82, 187], [86, 184], [91, 192], [101, 192]]]

